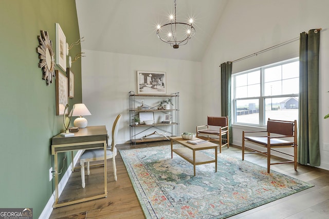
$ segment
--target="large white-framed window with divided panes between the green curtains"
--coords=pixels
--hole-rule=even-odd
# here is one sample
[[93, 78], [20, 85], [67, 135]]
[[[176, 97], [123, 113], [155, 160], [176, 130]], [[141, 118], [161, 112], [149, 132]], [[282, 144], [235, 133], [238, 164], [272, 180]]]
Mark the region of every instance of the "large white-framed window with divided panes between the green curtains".
[[299, 59], [233, 74], [232, 90], [233, 124], [298, 120]]

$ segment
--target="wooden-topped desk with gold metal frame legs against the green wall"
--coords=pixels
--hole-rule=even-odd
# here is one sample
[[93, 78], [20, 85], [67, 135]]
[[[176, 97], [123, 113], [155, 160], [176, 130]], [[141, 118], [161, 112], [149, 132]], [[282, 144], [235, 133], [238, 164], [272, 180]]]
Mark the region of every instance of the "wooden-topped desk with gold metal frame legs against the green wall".
[[73, 151], [88, 150], [96, 148], [104, 148], [104, 161], [106, 161], [106, 146], [107, 146], [107, 130], [105, 126], [88, 126], [84, 129], [79, 129], [74, 132], [74, 136], [64, 137], [61, 134], [54, 136], [51, 140], [51, 154], [54, 155], [54, 171], [55, 171], [55, 202], [53, 208], [94, 200], [96, 198], [107, 196], [107, 168], [104, 162], [104, 193], [90, 197], [81, 198], [79, 200], [58, 203], [58, 161], [57, 153], [71, 152], [71, 168], [74, 169]]

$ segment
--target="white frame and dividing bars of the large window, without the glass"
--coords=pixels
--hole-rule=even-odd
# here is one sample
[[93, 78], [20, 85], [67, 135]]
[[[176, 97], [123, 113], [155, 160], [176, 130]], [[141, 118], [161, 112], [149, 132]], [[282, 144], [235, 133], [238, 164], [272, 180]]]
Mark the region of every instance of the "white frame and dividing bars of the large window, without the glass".
[[[231, 100], [231, 107], [232, 107], [232, 124], [233, 125], [242, 125], [242, 126], [255, 126], [255, 127], [266, 127], [266, 121], [267, 118], [265, 118], [265, 99], [266, 98], [277, 98], [277, 97], [291, 97], [291, 96], [299, 96], [299, 93], [294, 93], [294, 94], [282, 94], [282, 95], [264, 95], [264, 70], [266, 68], [271, 68], [271, 67], [275, 67], [275, 66], [281, 66], [284, 64], [288, 64], [288, 63], [293, 63], [293, 62], [297, 62], [299, 61], [299, 57], [295, 57], [295, 58], [290, 58], [281, 62], [277, 62], [277, 63], [273, 63], [273, 64], [269, 64], [266, 66], [262, 66], [259, 68], [254, 68], [254, 69], [250, 69], [250, 70], [246, 70], [246, 71], [242, 71], [242, 72], [237, 72], [232, 74], [232, 100]], [[235, 98], [235, 77], [238, 75], [242, 75], [242, 74], [247, 74], [253, 71], [257, 71], [260, 70], [260, 96], [258, 97], [244, 97], [244, 98]], [[247, 100], [247, 99], [258, 99], [259, 101], [259, 124], [249, 124], [249, 123], [237, 123], [236, 122], [236, 101], [239, 100]]]

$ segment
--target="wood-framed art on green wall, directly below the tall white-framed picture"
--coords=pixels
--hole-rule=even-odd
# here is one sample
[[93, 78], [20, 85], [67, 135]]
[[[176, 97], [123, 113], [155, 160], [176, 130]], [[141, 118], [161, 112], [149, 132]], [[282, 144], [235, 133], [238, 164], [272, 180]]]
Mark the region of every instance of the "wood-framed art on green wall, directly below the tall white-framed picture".
[[[56, 74], [56, 115], [63, 115], [65, 106], [68, 104], [68, 86], [67, 77], [59, 70], [55, 70]], [[65, 114], [68, 114], [68, 109]]]

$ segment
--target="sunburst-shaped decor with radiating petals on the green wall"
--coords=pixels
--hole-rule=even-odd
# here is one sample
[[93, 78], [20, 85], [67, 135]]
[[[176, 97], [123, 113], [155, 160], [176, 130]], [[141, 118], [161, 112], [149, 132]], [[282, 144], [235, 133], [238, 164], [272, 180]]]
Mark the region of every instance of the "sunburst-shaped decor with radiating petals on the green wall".
[[52, 83], [52, 77], [55, 76], [55, 64], [53, 61], [52, 42], [49, 39], [47, 31], [41, 30], [41, 36], [38, 36], [39, 46], [36, 52], [39, 53], [39, 68], [42, 68], [42, 79], [46, 81], [47, 86]]

